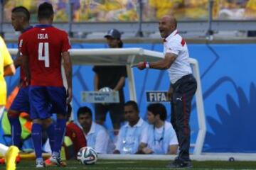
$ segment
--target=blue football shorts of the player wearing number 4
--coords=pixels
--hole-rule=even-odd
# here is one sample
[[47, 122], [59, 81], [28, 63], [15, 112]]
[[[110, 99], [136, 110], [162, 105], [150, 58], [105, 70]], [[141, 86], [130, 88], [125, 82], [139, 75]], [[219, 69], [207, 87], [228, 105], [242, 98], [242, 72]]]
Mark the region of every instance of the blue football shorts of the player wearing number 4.
[[66, 115], [65, 87], [31, 86], [29, 89], [31, 103], [31, 119], [50, 118], [52, 113]]

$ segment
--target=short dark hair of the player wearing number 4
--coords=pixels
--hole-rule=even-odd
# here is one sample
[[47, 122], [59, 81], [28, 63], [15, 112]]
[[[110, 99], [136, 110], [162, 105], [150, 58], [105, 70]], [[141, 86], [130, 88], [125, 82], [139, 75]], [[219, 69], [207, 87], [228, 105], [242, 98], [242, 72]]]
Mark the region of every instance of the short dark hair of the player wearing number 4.
[[38, 7], [38, 19], [48, 19], [53, 16], [53, 13], [53, 6], [48, 2], [44, 2]]

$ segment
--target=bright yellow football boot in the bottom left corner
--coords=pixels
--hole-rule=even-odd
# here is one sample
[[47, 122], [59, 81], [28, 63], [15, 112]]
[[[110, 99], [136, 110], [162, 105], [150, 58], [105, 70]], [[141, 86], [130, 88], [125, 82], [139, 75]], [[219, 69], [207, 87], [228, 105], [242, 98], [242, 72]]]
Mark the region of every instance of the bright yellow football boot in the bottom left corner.
[[18, 147], [11, 146], [6, 152], [6, 170], [15, 170], [16, 169], [16, 157], [18, 156]]

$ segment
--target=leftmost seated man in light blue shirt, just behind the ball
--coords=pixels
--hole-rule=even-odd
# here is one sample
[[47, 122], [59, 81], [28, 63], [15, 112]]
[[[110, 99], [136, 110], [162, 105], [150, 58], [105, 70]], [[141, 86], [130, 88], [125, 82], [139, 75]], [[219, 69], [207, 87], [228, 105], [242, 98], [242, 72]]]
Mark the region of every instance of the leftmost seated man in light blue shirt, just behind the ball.
[[87, 146], [92, 147], [99, 154], [106, 154], [110, 140], [107, 130], [102, 125], [92, 121], [92, 111], [87, 106], [79, 108], [77, 116], [80, 127], [85, 134]]

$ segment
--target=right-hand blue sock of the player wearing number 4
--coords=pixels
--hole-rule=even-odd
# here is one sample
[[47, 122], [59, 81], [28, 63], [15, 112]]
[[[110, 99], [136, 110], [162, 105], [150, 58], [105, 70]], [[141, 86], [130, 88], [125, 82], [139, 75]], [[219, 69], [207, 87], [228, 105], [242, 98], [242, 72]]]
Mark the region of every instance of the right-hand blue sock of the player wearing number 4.
[[63, 138], [65, 135], [66, 121], [66, 119], [57, 119], [57, 123], [55, 125], [55, 144], [53, 152], [60, 153], [60, 148], [63, 143]]

